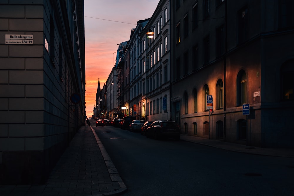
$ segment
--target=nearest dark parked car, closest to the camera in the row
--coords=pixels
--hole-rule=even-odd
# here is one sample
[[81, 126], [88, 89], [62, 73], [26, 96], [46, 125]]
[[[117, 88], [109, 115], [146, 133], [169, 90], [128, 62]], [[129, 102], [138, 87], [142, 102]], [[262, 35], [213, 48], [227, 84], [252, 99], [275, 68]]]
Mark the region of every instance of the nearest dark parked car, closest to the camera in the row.
[[165, 137], [179, 140], [181, 131], [179, 125], [177, 125], [175, 121], [156, 120], [146, 129], [146, 136], [153, 136], [155, 139]]

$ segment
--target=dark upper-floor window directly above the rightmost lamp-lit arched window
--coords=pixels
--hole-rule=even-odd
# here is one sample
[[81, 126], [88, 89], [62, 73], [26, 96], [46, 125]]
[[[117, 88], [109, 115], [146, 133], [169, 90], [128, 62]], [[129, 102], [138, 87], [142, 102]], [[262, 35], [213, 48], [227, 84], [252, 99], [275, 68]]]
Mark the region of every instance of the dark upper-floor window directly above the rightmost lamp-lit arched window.
[[245, 7], [238, 11], [238, 44], [247, 40], [248, 34], [248, 9]]

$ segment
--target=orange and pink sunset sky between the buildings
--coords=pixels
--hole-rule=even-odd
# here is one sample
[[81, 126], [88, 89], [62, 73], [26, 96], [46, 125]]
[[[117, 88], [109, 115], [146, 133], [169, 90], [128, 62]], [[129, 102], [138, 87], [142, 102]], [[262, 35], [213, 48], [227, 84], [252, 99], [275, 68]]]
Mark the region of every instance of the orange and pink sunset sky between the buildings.
[[92, 117], [98, 77], [106, 82], [118, 44], [128, 41], [137, 21], [150, 18], [159, 0], [85, 0], [86, 115]]

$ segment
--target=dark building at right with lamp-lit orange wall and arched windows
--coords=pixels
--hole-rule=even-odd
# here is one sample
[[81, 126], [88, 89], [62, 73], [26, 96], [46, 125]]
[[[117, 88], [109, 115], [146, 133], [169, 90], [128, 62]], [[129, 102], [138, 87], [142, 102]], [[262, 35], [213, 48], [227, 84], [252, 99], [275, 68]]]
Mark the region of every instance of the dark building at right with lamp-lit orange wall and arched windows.
[[172, 2], [171, 119], [183, 134], [294, 147], [293, 5]]

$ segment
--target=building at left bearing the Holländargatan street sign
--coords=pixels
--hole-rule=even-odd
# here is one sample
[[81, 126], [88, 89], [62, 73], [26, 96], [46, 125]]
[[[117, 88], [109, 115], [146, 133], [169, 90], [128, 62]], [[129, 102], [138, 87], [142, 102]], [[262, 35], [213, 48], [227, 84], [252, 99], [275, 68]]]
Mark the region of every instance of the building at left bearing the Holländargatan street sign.
[[86, 116], [83, 1], [3, 2], [0, 183], [43, 183]]

